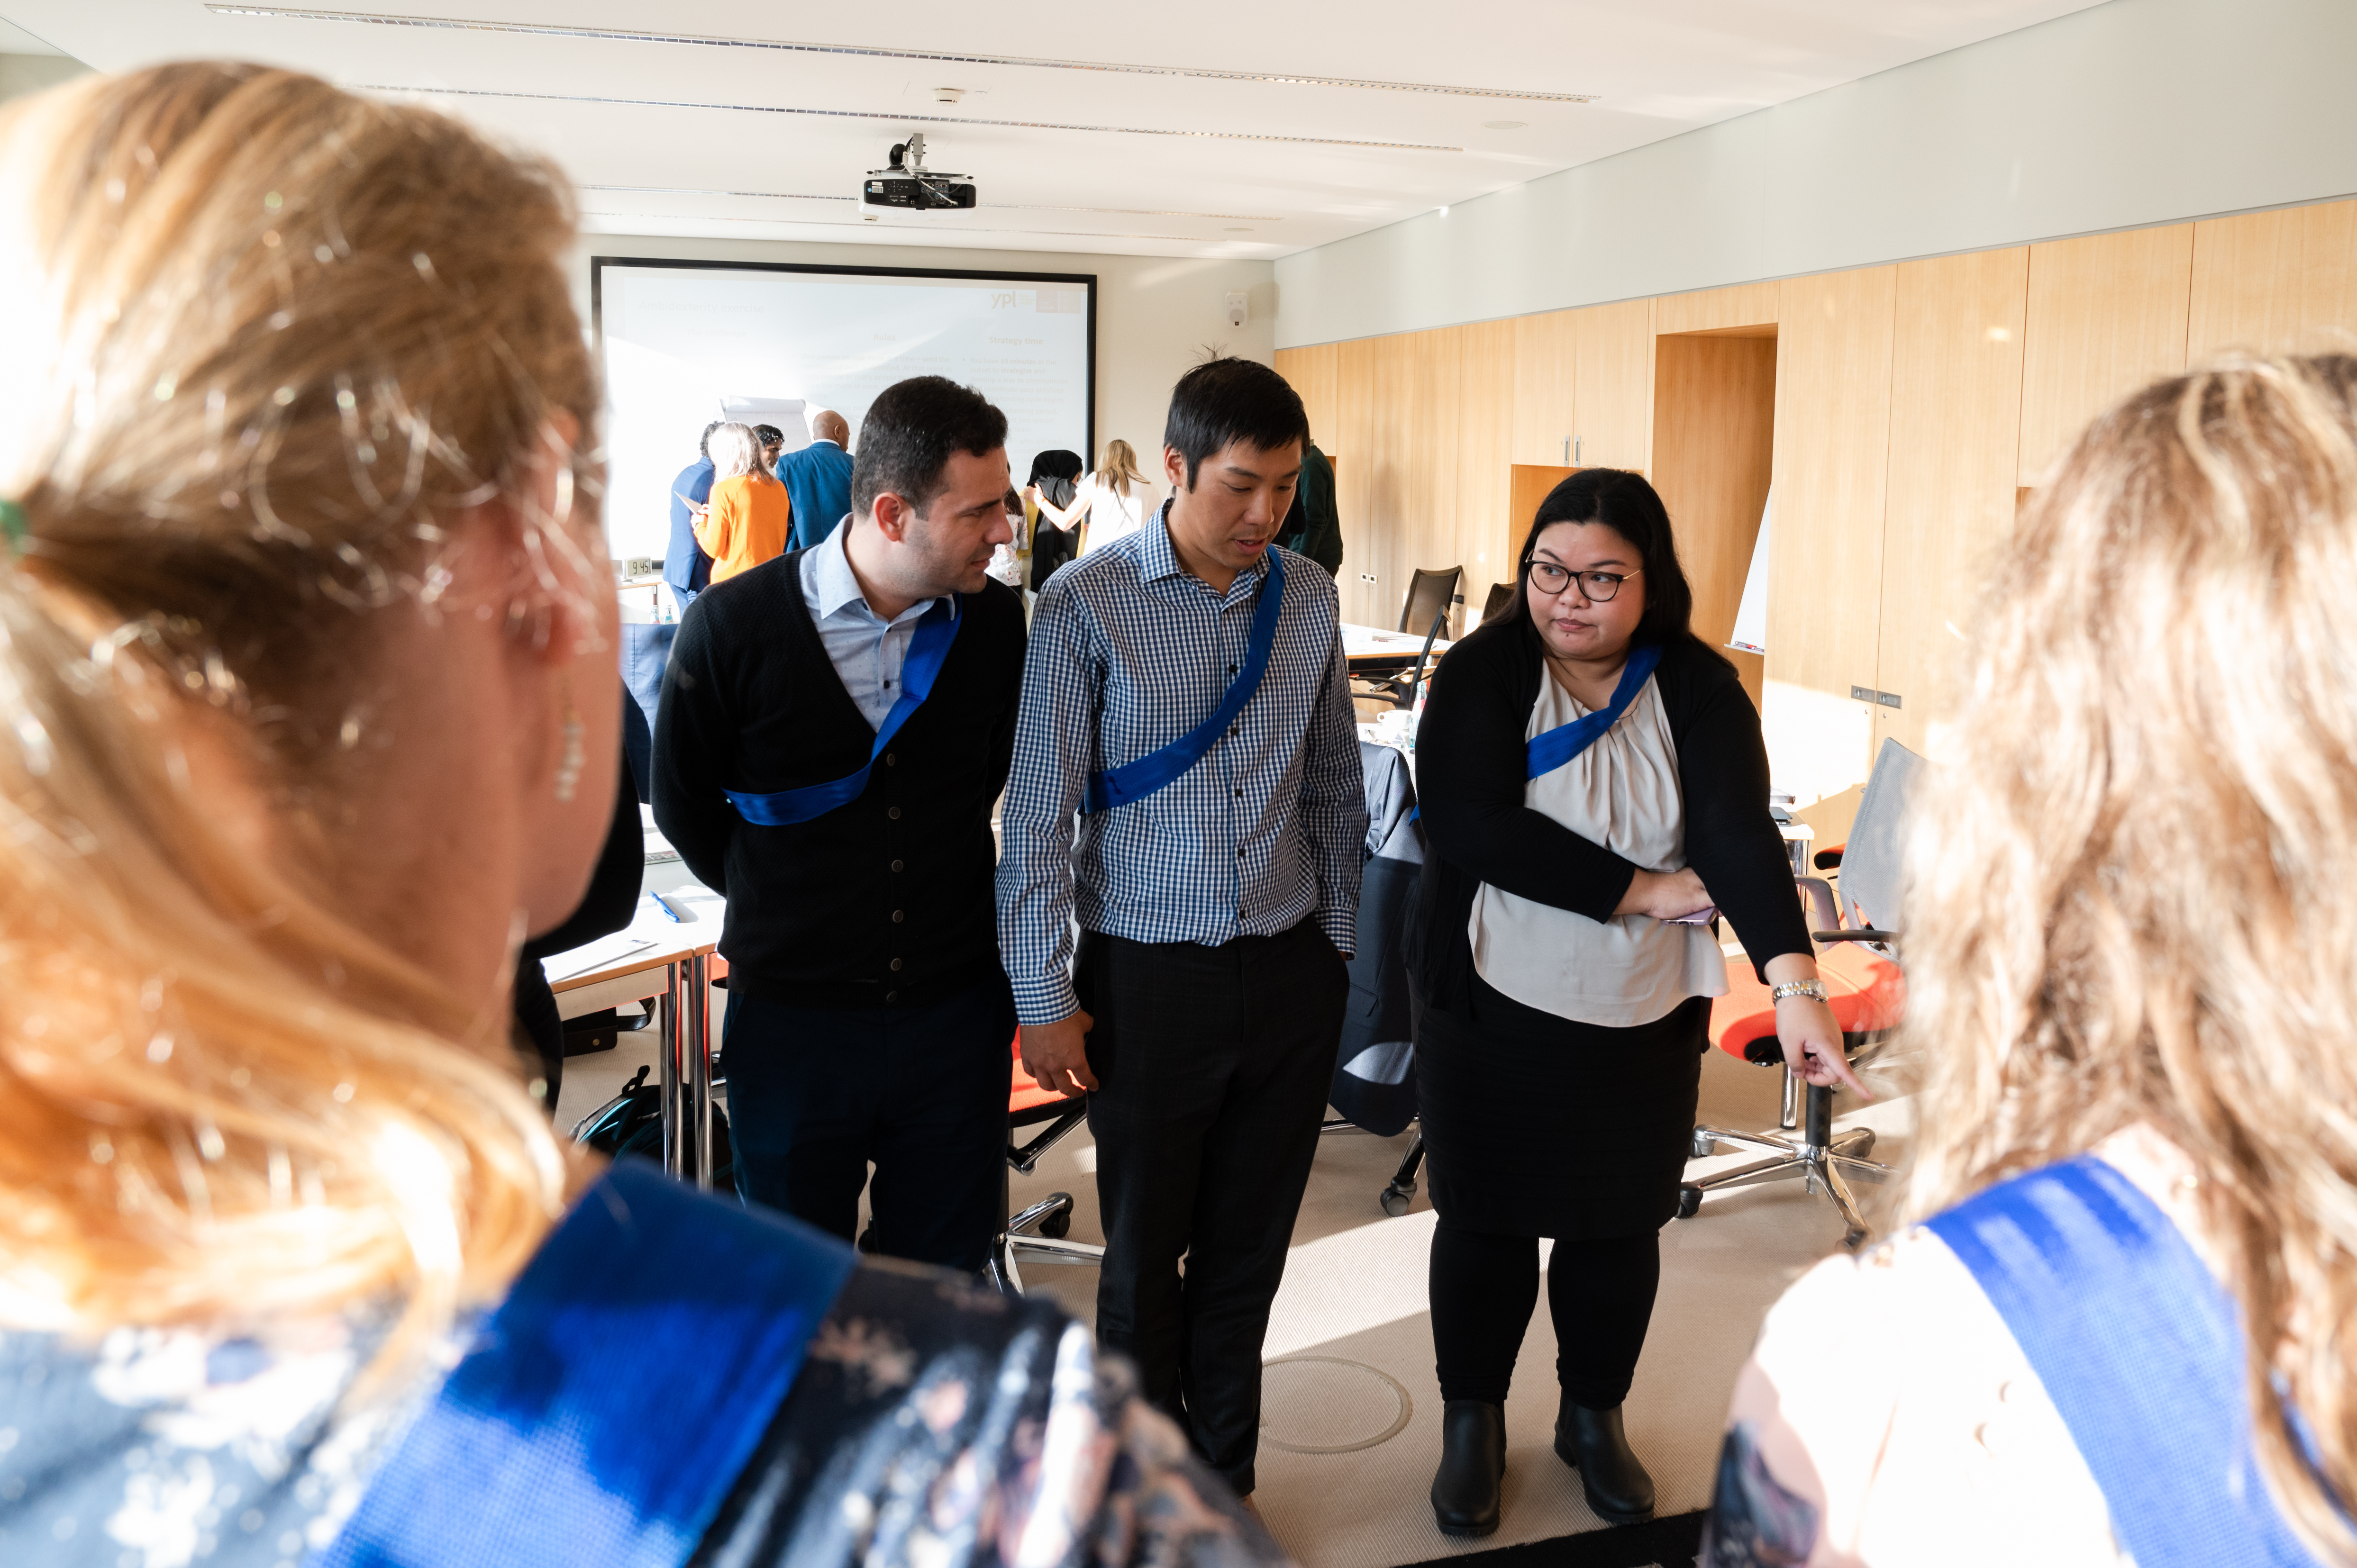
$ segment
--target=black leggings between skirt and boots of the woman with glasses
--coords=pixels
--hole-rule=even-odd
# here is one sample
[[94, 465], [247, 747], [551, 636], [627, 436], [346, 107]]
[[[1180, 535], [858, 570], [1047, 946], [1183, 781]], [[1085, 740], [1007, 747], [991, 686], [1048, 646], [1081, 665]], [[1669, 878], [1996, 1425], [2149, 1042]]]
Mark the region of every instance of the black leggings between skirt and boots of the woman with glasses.
[[[1558, 1240], [1546, 1261], [1556, 1382], [1577, 1405], [1629, 1398], [1662, 1285], [1662, 1233]], [[1539, 1304], [1539, 1238], [1433, 1228], [1433, 1351], [1440, 1398], [1506, 1403], [1523, 1330]]]

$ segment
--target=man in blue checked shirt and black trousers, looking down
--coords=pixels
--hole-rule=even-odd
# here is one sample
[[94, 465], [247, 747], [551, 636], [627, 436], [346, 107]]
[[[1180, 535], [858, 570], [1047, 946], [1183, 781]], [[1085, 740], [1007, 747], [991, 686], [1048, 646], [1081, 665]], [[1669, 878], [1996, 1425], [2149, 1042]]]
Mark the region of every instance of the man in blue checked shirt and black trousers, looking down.
[[1214, 358], [1178, 380], [1162, 441], [1162, 512], [1049, 578], [1032, 613], [999, 948], [1023, 1066], [1089, 1092], [1098, 1339], [1249, 1497], [1367, 804], [1334, 580], [1275, 545], [1301, 398]]

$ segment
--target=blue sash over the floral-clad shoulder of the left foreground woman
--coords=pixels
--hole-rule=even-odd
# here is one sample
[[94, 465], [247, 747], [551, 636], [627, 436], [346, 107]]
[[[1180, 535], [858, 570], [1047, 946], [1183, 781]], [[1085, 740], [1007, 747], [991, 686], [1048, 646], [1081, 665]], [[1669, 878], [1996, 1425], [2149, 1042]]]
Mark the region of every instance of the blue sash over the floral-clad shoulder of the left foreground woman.
[[316, 1568], [679, 1568], [851, 1264], [832, 1236], [620, 1160], [516, 1276]]

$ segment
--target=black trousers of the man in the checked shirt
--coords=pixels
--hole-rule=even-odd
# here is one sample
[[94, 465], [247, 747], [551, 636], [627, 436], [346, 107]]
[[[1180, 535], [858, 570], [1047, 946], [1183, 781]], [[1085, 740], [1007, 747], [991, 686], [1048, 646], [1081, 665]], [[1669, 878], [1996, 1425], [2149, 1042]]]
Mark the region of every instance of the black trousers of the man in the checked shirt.
[[1261, 1342], [1334, 1080], [1341, 955], [1315, 917], [1219, 948], [1087, 931], [1072, 983], [1096, 1019], [1096, 1337], [1252, 1493]]

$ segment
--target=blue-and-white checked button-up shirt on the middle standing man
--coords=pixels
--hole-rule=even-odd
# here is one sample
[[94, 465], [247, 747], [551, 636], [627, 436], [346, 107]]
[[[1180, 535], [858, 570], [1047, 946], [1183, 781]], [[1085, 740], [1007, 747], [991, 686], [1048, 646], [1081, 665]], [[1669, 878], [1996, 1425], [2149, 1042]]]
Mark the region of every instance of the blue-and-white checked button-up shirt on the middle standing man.
[[1146, 799], [1075, 813], [1091, 773], [1202, 724], [1244, 667], [1268, 561], [1226, 594], [1190, 575], [1164, 512], [1039, 594], [1016, 762], [999, 809], [999, 953], [1023, 1023], [1072, 1016], [1072, 917], [1131, 941], [1219, 946], [1315, 913], [1358, 941], [1367, 802], [1334, 580], [1285, 556], [1261, 689], [1226, 736]]

